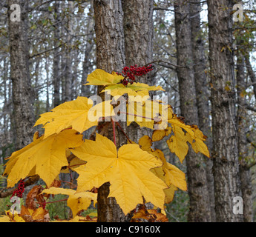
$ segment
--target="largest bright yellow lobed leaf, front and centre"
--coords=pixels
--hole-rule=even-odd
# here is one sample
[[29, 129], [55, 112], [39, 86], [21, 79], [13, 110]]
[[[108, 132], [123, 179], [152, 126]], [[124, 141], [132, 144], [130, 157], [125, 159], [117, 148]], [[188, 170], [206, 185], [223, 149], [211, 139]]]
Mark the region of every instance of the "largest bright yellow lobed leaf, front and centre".
[[74, 169], [79, 173], [77, 192], [100, 187], [109, 181], [109, 196], [116, 198], [125, 214], [143, 203], [142, 196], [163, 209], [163, 189], [167, 186], [150, 171], [154, 167], [161, 167], [163, 163], [141, 150], [137, 144], [125, 144], [117, 153], [112, 141], [96, 134], [96, 141], [86, 140], [72, 152], [87, 161], [87, 164]]

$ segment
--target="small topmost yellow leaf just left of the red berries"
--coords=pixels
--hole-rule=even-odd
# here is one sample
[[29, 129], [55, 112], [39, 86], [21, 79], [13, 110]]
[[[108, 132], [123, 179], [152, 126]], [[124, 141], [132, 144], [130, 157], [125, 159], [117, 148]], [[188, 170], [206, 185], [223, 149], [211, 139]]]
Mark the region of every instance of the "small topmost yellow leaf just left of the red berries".
[[104, 70], [96, 69], [93, 73], [88, 75], [88, 83], [85, 85], [108, 85], [119, 83], [124, 77], [122, 75], [117, 75], [116, 73], [107, 73]]

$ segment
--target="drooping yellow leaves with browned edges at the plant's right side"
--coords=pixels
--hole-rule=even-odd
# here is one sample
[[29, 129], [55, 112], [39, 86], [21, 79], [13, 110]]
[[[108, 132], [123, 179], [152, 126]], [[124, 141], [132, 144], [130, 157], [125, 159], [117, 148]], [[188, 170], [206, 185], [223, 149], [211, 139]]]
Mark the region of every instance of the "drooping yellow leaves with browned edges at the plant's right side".
[[[134, 120], [140, 127], [148, 127], [154, 129], [158, 126], [152, 135], [152, 141], [160, 141], [163, 138], [169, 136], [166, 141], [171, 153], [180, 158], [183, 162], [188, 153], [188, 143], [191, 144], [195, 153], [203, 153], [203, 155], [209, 157], [209, 150], [204, 141], [206, 136], [199, 130], [197, 125], [187, 125], [183, 119], [180, 119], [173, 113], [171, 105], [163, 104], [162, 101], [148, 101], [145, 102], [132, 102], [128, 106], [128, 110], [135, 111], [132, 116], [135, 116]], [[137, 109], [140, 104], [140, 111]], [[138, 112], [139, 111], [139, 112]], [[148, 111], [148, 112], [147, 112]], [[160, 116], [157, 116], [160, 115]], [[148, 119], [148, 118], [153, 118]], [[128, 121], [128, 125], [131, 124], [131, 119]]]

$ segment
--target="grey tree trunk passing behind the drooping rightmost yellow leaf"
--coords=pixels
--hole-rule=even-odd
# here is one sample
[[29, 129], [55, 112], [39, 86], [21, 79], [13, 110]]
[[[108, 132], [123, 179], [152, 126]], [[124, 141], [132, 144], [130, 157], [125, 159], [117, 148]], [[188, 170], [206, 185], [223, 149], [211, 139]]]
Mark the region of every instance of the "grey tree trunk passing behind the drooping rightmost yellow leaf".
[[[198, 124], [194, 70], [192, 65], [191, 21], [188, 18], [189, 4], [183, 0], [176, 1], [174, 10], [177, 64], [183, 66], [177, 67], [181, 115], [186, 118], [187, 124]], [[209, 192], [203, 155], [194, 153], [190, 147], [186, 156], [186, 164], [190, 201], [188, 221], [210, 221]]]

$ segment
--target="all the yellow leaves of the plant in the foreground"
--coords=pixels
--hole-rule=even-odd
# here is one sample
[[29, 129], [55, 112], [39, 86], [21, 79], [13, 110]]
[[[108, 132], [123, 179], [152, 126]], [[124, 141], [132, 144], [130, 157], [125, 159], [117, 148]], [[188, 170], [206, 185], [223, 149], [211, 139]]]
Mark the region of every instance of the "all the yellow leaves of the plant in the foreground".
[[[131, 100], [127, 104], [127, 124], [136, 121], [140, 127], [152, 130], [158, 127], [152, 138], [143, 136], [139, 144], [125, 144], [119, 150], [111, 140], [99, 134], [96, 134], [96, 141], [84, 141], [82, 133], [85, 130], [96, 126], [102, 117], [113, 118], [115, 113], [111, 101], [93, 106], [91, 99], [79, 96], [40, 116], [35, 126], [42, 124], [45, 134], [39, 137], [35, 133], [31, 144], [8, 158], [4, 170], [4, 175], [8, 176], [7, 186], [13, 187], [27, 176], [39, 175], [49, 187], [43, 193], [69, 196], [68, 206], [74, 216], [72, 221], [88, 221], [82, 220], [77, 214], [87, 209], [91, 201], [96, 203], [96, 193], [90, 190], [106, 182], [111, 184], [109, 197], [116, 198], [125, 214], [144, 201], [164, 209], [164, 204], [172, 201], [178, 188], [186, 190], [185, 174], [168, 163], [161, 150], [153, 150], [152, 142], [171, 135], [167, 140], [168, 147], [183, 161], [188, 153], [188, 143], [196, 153], [209, 156], [204, 144], [206, 136], [197, 126], [186, 125], [173, 113], [171, 106], [162, 101], [142, 101], [138, 97], [136, 100], [135, 96], [147, 98], [149, 90], [163, 90], [161, 87], [141, 83], [124, 86], [120, 83], [122, 79], [116, 73], [109, 74], [97, 69], [88, 76], [88, 84], [105, 86], [102, 93], [110, 91], [111, 96], [128, 94]], [[69, 160], [70, 156], [74, 158]], [[67, 172], [70, 167], [79, 173], [76, 190], [51, 187], [59, 173]], [[14, 215], [13, 221], [47, 220], [43, 208], [35, 209], [29, 205], [22, 208], [22, 215]], [[152, 215], [156, 216], [157, 213], [149, 213], [149, 216]]]

